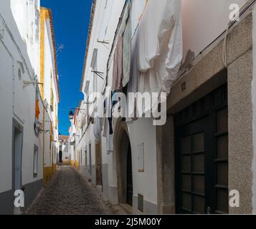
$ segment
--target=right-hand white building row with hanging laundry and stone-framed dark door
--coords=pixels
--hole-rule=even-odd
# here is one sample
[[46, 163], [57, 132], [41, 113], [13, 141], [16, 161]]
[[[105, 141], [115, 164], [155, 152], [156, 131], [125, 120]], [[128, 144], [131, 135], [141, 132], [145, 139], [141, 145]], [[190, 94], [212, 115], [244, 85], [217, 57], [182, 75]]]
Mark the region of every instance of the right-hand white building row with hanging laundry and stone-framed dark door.
[[[93, 1], [78, 152], [111, 203], [133, 213], [255, 213], [254, 4]], [[112, 97], [108, 87], [166, 92], [165, 125], [98, 119], [104, 99], [93, 92]], [[234, 192], [239, 207], [229, 205]]]

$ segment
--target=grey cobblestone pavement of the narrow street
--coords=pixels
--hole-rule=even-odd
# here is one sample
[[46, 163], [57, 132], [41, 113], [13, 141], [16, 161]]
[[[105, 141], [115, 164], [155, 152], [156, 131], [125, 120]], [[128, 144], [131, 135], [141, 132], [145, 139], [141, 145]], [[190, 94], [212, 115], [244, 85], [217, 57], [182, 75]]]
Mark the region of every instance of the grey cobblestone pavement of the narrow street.
[[26, 214], [114, 214], [117, 210], [103, 200], [74, 167], [57, 167], [52, 181], [41, 191]]

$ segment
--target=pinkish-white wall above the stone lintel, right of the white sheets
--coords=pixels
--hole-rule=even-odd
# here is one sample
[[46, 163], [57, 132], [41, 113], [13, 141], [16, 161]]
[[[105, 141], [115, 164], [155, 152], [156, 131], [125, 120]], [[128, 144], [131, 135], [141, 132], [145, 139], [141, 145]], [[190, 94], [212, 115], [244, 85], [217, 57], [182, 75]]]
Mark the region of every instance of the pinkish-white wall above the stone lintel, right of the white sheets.
[[227, 29], [230, 4], [242, 7], [246, 1], [181, 0], [184, 58], [189, 49], [197, 56]]

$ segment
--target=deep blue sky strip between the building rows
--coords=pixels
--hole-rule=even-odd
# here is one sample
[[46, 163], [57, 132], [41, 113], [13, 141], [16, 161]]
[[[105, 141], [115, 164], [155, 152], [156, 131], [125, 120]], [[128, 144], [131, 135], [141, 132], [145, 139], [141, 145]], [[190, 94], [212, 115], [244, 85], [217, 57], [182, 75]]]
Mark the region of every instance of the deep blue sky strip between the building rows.
[[52, 9], [56, 45], [64, 45], [57, 54], [60, 77], [59, 132], [68, 135], [71, 107], [83, 98], [80, 92], [87, 31], [92, 0], [41, 0], [41, 6]]

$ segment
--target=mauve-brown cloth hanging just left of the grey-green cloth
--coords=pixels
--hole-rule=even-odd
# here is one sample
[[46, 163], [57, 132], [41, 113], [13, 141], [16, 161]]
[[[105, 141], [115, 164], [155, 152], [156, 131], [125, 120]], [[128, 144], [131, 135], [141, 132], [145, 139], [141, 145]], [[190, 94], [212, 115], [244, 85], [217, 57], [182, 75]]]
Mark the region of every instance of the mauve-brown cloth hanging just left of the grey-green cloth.
[[123, 36], [120, 36], [115, 47], [113, 62], [113, 84], [112, 90], [122, 89], [123, 80]]

